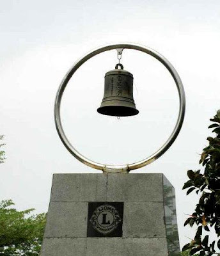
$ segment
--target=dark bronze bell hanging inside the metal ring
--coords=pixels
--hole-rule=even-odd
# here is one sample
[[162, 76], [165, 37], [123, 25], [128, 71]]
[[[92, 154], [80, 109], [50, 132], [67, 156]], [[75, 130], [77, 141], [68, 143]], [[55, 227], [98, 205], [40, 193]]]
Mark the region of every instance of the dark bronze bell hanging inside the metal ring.
[[[118, 69], [120, 67], [120, 69]], [[107, 116], [138, 115], [133, 98], [133, 75], [118, 63], [105, 75], [104, 97], [98, 113]]]

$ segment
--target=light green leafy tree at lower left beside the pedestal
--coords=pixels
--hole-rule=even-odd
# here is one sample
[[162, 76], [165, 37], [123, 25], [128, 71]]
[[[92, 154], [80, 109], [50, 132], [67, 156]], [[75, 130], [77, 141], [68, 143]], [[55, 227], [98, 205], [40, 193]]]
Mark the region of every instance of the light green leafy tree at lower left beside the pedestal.
[[0, 255], [40, 255], [46, 214], [30, 216], [34, 209], [17, 211], [12, 205], [12, 200], [0, 202]]

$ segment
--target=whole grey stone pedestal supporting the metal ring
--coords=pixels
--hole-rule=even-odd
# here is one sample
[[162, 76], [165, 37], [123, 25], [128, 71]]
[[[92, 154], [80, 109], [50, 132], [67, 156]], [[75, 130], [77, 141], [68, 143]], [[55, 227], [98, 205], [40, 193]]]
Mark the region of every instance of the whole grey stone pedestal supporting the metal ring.
[[54, 174], [42, 256], [180, 255], [162, 173]]

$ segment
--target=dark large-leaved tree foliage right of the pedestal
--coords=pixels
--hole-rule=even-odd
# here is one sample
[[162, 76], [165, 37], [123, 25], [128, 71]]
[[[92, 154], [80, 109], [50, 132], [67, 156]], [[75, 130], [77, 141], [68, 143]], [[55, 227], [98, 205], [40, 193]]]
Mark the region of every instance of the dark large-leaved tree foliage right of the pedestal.
[[201, 239], [204, 230], [209, 232], [210, 227], [214, 227], [217, 237], [220, 236], [220, 110], [210, 121], [214, 124], [208, 128], [214, 128], [212, 132], [216, 133], [216, 137], [208, 137], [209, 145], [203, 148], [200, 164], [205, 167], [205, 170], [202, 173], [201, 170], [195, 172], [189, 170], [187, 172], [189, 180], [183, 187], [187, 189], [187, 195], [192, 191], [201, 193], [195, 211], [184, 223], [184, 226], [198, 225], [193, 241], [185, 244], [182, 249], [183, 252], [189, 250], [189, 255], [198, 253], [200, 256], [220, 256], [220, 253], [215, 250], [216, 247], [220, 249], [219, 239], [210, 241], [208, 235]]

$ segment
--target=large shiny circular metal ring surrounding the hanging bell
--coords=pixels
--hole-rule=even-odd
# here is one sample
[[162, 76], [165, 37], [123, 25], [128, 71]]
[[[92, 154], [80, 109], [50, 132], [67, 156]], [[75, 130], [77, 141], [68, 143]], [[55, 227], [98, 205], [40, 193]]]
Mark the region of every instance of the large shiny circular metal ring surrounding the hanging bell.
[[[179, 107], [179, 112], [178, 112], [178, 118], [177, 118], [177, 123], [175, 124], [175, 127], [173, 129], [173, 132], [169, 136], [168, 140], [162, 145], [159, 150], [157, 150], [155, 153], [153, 153], [151, 156], [138, 161], [136, 163], [131, 163], [131, 164], [123, 164], [123, 165], [107, 165], [107, 164], [101, 164], [101, 163], [96, 163], [94, 161], [91, 161], [90, 159], [84, 157], [81, 155], [68, 141], [67, 136], [65, 135], [65, 132], [63, 131], [63, 127], [61, 124], [61, 116], [60, 116], [60, 104], [61, 104], [61, 99], [63, 96], [63, 92], [68, 84], [68, 81], [70, 81], [70, 78], [74, 75], [75, 71], [83, 65], [86, 61], [90, 60], [93, 56], [100, 54], [101, 52], [113, 50], [113, 49], [134, 49], [138, 50], [141, 52], [145, 52], [146, 54], [150, 54], [157, 60], [159, 60], [169, 71], [171, 76], [173, 77], [175, 84], [177, 85], [178, 89], [178, 96], [179, 96], [179, 102], [180, 102], [180, 107]], [[178, 133], [180, 132], [180, 129], [182, 127], [182, 123], [184, 121], [184, 115], [185, 115], [185, 93], [184, 93], [184, 87], [182, 85], [182, 81], [180, 77], [178, 76], [177, 71], [169, 63], [164, 56], [159, 54], [159, 52], [154, 51], [153, 49], [150, 49], [146, 46], [139, 45], [139, 44], [109, 44], [109, 45], [104, 45], [102, 47], [98, 47], [98, 49], [95, 49], [85, 56], [78, 60], [71, 68], [68, 70], [66, 76], [63, 78], [63, 81], [61, 81], [61, 84], [59, 86], [58, 92], [56, 94], [56, 100], [55, 100], [55, 105], [54, 105], [54, 119], [55, 119], [55, 124], [56, 124], [56, 129], [59, 134], [59, 138], [67, 148], [67, 150], [79, 161], [82, 163], [98, 169], [102, 170], [103, 172], [129, 172], [130, 170], [135, 170], [138, 168], [141, 168], [147, 164], [152, 163], [156, 159], [158, 159], [162, 154], [168, 150], [168, 148], [173, 144], [173, 142], [176, 140]]]

